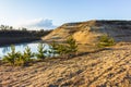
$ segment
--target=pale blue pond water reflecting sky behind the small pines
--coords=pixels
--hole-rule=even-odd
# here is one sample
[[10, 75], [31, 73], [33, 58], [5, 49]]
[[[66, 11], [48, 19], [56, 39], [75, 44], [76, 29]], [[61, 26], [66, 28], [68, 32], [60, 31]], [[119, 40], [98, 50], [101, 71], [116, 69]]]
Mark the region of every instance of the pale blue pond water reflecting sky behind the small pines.
[[[20, 51], [23, 53], [27, 46], [31, 48], [32, 52], [37, 52], [38, 45], [39, 42], [37, 41], [37, 42], [28, 42], [28, 44], [17, 44], [14, 46], [15, 46], [15, 51]], [[47, 44], [44, 45], [45, 45], [45, 49], [48, 50], [49, 46]], [[9, 52], [11, 52], [11, 46], [0, 47], [0, 59], [3, 58], [3, 55], [5, 55]]]

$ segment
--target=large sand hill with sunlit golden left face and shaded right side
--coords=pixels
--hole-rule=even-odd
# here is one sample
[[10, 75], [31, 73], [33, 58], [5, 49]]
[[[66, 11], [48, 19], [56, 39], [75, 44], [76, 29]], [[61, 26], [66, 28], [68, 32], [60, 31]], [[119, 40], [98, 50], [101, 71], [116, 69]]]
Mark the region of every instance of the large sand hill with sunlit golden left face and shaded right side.
[[62, 41], [72, 35], [80, 44], [93, 45], [99, 36], [107, 34], [116, 41], [131, 41], [131, 21], [88, 21], [67, 23], [56, 28], [43, 40]]

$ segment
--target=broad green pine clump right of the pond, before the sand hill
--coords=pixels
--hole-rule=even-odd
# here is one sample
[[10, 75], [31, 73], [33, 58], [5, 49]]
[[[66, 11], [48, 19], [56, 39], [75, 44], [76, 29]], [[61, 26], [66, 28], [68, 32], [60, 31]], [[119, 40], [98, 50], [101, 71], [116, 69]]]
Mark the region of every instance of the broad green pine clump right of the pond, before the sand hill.
[[55, 41], [51, 44], [51, 50], [53, 54], [58, 53], [63, 58], [68, 58], [69, 54], [75, 54], [78, 51], [78, 45], [73, 37], [69, 37], [64, 45], [56, 44]]

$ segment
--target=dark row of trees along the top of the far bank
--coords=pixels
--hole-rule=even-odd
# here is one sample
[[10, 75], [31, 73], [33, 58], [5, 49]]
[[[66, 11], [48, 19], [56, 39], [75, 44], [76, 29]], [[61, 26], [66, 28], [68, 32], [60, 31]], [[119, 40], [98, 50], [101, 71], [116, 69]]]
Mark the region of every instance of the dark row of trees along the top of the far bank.
[[27, 28], [14, 28], [13, 26], [1, 25], [0, 26], [0, 37], [27, 37], [35, 36], [41, 37], [49, 34], [51, 30], [27, 30]]

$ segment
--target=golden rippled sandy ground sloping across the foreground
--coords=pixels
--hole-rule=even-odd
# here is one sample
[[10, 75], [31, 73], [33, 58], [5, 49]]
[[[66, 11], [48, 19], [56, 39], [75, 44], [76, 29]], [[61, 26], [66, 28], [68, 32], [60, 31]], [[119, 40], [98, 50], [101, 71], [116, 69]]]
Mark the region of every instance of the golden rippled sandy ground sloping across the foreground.
[[131, 87], [131, 44], [27, 67], [1, 65], [0, 87]]

